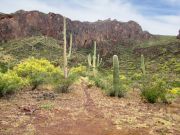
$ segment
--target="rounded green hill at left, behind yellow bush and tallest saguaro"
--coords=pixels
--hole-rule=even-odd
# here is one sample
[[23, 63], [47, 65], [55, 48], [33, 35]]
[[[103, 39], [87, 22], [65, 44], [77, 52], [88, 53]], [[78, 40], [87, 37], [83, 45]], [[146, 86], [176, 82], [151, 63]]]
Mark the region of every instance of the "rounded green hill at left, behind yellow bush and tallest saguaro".
[[[1, 66], [10, 64], [10, 68], [28, 57], [45, 58], [54, 65], [62, 67], [63, 48], [58, 40], [44, 36], [34, 36], [10, 40], [0, 44]], [[82, 57], [82, 56], [83, 57]], [[78, 50], [72, 53], [70, 59], [71, 65], [85, 63], [85, 52], [78, 53]]]

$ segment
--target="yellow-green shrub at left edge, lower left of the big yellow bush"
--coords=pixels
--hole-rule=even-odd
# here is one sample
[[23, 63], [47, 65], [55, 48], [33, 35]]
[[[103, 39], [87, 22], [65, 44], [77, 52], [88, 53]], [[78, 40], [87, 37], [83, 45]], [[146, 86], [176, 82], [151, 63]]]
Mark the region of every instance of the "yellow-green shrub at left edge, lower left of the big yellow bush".
[[28, 82], [15, 72], [0, 73], [0, 96], [15, 93], [27, 84]]

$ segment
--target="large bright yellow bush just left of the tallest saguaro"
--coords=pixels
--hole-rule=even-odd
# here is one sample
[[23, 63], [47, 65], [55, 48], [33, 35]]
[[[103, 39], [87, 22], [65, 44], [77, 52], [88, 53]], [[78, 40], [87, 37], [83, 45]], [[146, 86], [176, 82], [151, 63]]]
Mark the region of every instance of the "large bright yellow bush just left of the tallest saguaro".
[[26, 59], [15, 66], [13, 71], [20, 77], [27, 78], [33, 86], [32, 89], [36, 89], [40, 84], [58, 82], [62, 78], [60, 68], [54, 67], [54, 65], [45, 59]]

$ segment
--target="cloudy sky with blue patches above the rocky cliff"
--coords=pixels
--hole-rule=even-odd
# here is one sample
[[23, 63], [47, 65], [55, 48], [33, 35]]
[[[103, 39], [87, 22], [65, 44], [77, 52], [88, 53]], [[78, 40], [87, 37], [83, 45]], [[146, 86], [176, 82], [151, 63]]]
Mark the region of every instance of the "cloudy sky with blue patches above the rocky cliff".
[[72, 20], [134, 20], [152, 34], [177, 35], [180, 0], [0, 0], [0, 12], [54, 12]]

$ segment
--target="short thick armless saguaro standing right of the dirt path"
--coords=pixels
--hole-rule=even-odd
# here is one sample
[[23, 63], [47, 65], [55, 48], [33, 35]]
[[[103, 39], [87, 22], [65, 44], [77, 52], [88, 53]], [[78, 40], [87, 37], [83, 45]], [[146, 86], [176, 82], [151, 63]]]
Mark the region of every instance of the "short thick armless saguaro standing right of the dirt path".
[[118, 97], [119, 95], [119, 84], [120, 83], [120, 78], [119, 78], [119, 60], [118, 56], [114, 55], [113, 56], [113, 91], [115, 92], [115, 96]]

